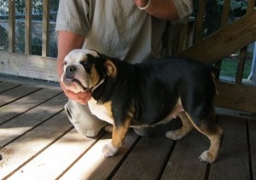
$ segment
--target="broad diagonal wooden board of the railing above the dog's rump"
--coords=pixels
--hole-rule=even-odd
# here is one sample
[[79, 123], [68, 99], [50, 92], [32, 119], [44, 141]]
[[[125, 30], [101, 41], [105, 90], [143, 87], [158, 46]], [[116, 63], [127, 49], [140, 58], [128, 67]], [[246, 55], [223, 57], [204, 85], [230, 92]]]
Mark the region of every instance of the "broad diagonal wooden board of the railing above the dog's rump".
[[184, 50], [180, 56], [212, 64], [255, 40], [256, 11], [253, 11]]

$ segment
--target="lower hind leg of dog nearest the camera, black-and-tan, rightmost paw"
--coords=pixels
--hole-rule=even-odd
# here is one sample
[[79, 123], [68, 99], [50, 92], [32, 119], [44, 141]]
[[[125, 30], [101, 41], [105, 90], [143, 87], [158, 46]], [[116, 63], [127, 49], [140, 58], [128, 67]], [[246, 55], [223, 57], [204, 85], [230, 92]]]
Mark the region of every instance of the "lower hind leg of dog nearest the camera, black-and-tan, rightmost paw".
[[[195, 129], [208, 137], [211, 142], [210, 148], [204, 151], [199, 159], [207, 163], [214, 162], [218, 157], [218, 150], [221, 146], [221, 142], [224, 136], [224, 131], [213, 121], [213, 111], [207, 119], [201, 119], [200, 121], [194, 121], [194, 119], [187, 113], [190, 122], [195, 126]], [[200, 122], [195, 125], [195, 122]]]

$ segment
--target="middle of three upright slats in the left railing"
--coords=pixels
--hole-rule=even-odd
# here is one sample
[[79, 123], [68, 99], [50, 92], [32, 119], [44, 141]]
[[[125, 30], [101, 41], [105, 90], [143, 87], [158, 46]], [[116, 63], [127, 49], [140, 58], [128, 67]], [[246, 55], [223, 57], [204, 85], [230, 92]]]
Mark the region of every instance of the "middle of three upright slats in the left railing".
[[32, 53], [32, 0], [25, 2], [25, 54]]

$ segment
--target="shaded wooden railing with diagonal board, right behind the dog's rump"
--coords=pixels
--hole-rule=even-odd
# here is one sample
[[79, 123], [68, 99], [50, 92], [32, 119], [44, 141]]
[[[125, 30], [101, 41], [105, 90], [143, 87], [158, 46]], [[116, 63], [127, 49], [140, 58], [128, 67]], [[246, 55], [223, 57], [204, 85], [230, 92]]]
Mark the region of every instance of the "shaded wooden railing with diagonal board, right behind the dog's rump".
[[236, 80], [234, 83], [219, 80], [216, 105], [256, 113], [256, 87], [242, 84], [242, 74], [247, 55], [247, 45], [256, 41], [256, 11], [254, 1], [249, 0], [247, 15], [228, 25], [230, 0], [225, 0], [221, 28], [207, 38], [202, 38], [206, 0], [199, 0], [199, 11], [195, 21], [195, 44], [180, 53], [207, 64], [221, 67], [221, 60], [240, 50]]

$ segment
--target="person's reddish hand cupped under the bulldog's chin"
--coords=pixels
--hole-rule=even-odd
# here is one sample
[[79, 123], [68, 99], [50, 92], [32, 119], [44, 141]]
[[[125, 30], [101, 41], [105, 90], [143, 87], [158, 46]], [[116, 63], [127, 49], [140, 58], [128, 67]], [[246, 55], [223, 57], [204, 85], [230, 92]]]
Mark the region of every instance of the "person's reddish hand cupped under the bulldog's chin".
[[75, 102], [79, 102], [80, 104], [87, 104], [87, 102], [90, 100], [91, 94], [90, 92], [79, 92], [74, 93], [71, 90], [67, 90], [67, 88], [64, 86], [64, 84], [61, 83], [61, 89], [64, 91], [65, 95], [69, 100], [73, 100]]

